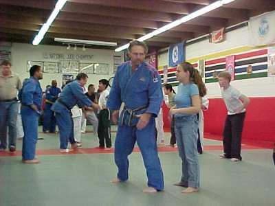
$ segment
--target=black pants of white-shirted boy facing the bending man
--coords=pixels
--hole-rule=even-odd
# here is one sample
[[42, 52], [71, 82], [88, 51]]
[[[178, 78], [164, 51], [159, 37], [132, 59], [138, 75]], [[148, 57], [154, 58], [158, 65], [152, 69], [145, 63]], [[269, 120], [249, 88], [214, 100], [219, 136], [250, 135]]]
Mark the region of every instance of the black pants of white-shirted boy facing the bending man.
[[103, 109], [98, 115], [98, 139], [100, 148], [111, 148], [111, 122], [109, 109]]

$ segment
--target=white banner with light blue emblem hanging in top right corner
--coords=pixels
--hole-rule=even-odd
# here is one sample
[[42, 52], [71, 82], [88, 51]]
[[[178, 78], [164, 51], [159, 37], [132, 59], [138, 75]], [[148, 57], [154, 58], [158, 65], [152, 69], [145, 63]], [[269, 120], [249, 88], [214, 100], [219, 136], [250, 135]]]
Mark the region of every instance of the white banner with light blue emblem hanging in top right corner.
[[275, 43], [275, 11], [250, 18], [248, 33], [250, 45]]

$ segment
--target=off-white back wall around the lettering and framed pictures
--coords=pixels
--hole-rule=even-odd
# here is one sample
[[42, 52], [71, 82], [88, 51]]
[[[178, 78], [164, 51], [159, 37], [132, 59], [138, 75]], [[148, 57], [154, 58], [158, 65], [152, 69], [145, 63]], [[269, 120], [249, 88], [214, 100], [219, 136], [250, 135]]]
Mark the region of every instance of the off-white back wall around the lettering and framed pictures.
[[[88, 84], [95, 84], [98, 87], [98, 80], [102, 78], [109, 79], [113, 76], [113, 55], [112, 50], [106, 49], [89, 49], [87, 48], [85, 52], [81, 48], [76, 51], [74, 49], [66, 49], [66, 46], [52, 46], [52, 45], [39, 45], [33, 46], [24, 43], [12, 43], [12, 70], [19, 74], [21, 80], [28, 78], [29, 73], [27, 72], [27, 61], [49, 61], [58, 62], [58, 59], [44, 58], [45, 53], [56, 53], [56, 54], [89, 54], [93, 55], [91, 60], [80, 60], [80, 62], [97, 62], [97, 63], [107, 63], [109, 64], [109, 75], [98, 75], [89, 74]], [[115, 54], [118, 55], [118, 54]], [[47, 84], [51, 84], [52, 80], [58, 81], [58, 87], [62, 84], [62, 73], [43, 73], [43, 80], [41, 80], [41, 87], [43, 90]], [[74, 78], [76, 78], [76, 73], [74, 73]], [[87, 86], [86, 85], [86, 86]]]

